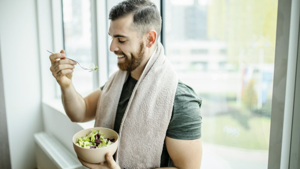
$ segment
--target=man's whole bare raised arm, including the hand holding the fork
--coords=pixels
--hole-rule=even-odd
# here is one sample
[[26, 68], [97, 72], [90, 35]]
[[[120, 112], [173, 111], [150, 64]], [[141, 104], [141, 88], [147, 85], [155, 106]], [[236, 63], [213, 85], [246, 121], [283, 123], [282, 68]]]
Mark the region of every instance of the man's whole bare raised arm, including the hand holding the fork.
[[50, 71], [61, 87], [61, 100], [64, 110], [73, 122], [85, 122], [94, 119], [101, 89], [82, 98], [72, 84], [73, 69], [76, 62], [65, 59], [65, 56], [64, 50], [49, 56], [51, 62]]

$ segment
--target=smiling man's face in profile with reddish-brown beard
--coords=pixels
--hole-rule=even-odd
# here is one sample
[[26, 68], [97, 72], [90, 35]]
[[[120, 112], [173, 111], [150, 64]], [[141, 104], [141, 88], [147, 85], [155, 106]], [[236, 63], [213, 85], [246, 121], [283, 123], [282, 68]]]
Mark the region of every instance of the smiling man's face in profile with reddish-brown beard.
[[118, 67], [122, 71], [133, 71], [144, 59], [145, 45], [138, 32], [131, 26], [132, 15], [110, 22], [108, 34], [112, 37], [110, 51], [118, 56]]

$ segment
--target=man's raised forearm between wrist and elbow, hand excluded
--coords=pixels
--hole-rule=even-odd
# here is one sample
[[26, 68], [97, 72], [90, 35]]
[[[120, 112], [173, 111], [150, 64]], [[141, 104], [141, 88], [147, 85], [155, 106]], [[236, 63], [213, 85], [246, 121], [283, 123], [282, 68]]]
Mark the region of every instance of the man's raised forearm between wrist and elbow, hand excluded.
[[85, 101], [76, 92], [73, 84], [66, 89], [61, 89], [61, 100], [64, 110], [72, 122], [82, 122], [85, 119]]

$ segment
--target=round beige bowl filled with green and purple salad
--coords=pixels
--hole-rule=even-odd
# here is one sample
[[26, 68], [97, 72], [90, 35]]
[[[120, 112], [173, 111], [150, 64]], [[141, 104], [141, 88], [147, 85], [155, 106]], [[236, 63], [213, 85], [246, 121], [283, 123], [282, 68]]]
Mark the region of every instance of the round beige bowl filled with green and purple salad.
[[79, 158], [89, 163], [102, 163], [105, 155], [114, 154], [119, 135], [109, 128], [94, 127], [81, 130], [73, 136], [73, 147]]

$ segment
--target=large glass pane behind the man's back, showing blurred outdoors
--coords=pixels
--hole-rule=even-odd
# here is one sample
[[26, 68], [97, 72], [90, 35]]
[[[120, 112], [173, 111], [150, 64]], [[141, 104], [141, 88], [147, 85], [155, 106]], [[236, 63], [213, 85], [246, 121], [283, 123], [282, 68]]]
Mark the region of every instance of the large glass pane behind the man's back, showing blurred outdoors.
[[165, 51], [202, 98], [203, 169], [266, 169], [277, 0], [166, 0]]

